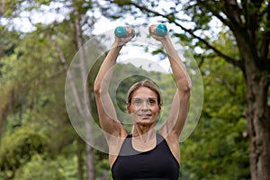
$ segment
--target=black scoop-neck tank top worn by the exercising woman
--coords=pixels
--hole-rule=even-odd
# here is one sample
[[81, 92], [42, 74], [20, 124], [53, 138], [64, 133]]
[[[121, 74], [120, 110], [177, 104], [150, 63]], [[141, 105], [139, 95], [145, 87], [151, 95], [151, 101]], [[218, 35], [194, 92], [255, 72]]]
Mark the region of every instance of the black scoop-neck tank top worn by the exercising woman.
[[131, 135], [122, 143], [112, 165], [113, 180], [177, 180], [180, 166], [166, 140], [157, 133], [157, 146], [146, 152], [132, 148]]

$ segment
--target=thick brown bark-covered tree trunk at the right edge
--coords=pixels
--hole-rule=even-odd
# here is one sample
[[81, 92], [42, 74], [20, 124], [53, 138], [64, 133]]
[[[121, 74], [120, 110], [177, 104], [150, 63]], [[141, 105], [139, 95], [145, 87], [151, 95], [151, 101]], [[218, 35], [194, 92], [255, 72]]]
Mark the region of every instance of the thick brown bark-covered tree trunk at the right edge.
[[[270, 179], [270, 115], [267, 104], [269, 73], [264, 62], [266, 55], [258, 52], [257, 38], [238, 25], [232, 28], [243, 59], [241, 68], [247, 85], [247, 132], [249, 163], [252, 180]], [[251, 31], [251, 30], [249, 30]], [[257, 46], [256, 46], [257, 45]]]

